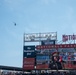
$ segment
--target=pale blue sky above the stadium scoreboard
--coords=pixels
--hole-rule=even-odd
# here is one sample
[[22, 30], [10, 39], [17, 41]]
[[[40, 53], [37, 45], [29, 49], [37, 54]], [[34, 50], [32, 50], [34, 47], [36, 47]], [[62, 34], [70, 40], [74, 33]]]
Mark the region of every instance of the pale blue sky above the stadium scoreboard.
[[76, 34], [76, 0], [0, 0], [0, 65], [22, 67], [23, 34], [45, 32]]

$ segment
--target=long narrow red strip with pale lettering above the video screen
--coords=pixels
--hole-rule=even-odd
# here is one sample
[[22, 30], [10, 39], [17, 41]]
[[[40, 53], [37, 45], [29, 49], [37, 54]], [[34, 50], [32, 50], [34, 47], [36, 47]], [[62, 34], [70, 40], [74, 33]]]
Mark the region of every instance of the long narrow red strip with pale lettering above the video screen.
[[76, 44], [56, 44], [56, 45], [38, 45], [36, 46], [37, 50], [40, 49], [52, 49], [52, 48], [76, 48]]

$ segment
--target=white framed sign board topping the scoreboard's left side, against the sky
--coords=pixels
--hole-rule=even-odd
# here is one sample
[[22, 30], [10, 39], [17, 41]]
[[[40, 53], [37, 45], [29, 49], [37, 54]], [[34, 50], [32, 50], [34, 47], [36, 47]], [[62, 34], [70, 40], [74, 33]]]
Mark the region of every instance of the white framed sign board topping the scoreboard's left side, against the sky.
[[41, 41], [41, 40], [57, 40], [57, 32], [32, 33], [32, 34], [24, 35], [25, 42], [35, 42], [35, 41]]

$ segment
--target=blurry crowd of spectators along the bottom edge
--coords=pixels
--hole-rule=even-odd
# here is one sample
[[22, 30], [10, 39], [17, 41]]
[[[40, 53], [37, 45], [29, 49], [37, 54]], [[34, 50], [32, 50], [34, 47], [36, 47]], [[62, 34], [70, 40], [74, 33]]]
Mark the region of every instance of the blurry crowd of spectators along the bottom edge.
[[21, 72], [7, 72], [1, 75], [76, 75], [76, 72], [51, 72], [51, 73], [21, 73]]

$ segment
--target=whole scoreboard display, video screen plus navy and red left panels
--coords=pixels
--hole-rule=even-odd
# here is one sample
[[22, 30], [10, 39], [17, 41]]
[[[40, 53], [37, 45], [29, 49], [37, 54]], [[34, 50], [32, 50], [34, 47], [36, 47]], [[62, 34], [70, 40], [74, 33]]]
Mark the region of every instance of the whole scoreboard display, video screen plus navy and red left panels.
[[25, 46], [23, 68], [32, 69], [76, 69], [75, 48], [51, 48], [35, 50], [35, 46]]

